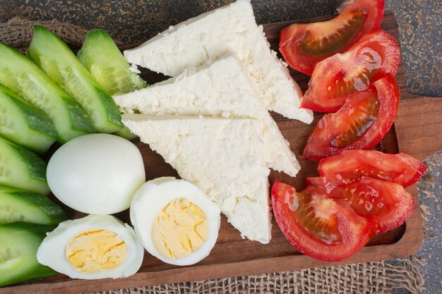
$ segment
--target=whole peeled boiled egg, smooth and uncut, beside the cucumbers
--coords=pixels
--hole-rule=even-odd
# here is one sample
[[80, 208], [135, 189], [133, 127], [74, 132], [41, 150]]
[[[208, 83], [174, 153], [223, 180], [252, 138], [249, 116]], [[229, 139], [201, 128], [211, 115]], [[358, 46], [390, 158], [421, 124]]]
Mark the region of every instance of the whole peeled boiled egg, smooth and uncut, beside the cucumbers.
[[132, 142], [116, 135], [83, 135], [54, 153], [47, 183], [68, 207], [85, 214], [114, 214], [128, 209], [145, 183], [143, 157]]

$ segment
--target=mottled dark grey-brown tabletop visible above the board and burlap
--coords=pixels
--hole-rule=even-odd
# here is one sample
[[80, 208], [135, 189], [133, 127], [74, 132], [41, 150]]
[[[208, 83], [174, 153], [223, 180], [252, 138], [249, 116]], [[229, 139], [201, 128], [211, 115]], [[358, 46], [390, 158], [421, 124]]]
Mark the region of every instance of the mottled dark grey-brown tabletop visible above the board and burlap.
[[[53, 18], [83, 26], [100, 27], [123, 42], [153, 37], [183, 20], [233, 0], [0, 0], [0, 22], [14, 16]], [[258, 23], [328, 16], [342, 0], [252, 0]], [[409, 92], [442, 96], [442, 1], [387, 0], [386, 8], [398, 18], [402, 56]]]

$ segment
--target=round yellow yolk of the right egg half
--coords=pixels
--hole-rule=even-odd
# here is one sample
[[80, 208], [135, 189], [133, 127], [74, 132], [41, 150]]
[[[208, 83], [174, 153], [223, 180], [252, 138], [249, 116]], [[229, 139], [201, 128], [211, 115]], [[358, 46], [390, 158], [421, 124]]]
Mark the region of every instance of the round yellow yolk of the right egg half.
[[186, 199], [170, 202], [153, 221], [152, 240], [160, 255], [180, 259], [198, 250], [208, 238], [204, 212]]

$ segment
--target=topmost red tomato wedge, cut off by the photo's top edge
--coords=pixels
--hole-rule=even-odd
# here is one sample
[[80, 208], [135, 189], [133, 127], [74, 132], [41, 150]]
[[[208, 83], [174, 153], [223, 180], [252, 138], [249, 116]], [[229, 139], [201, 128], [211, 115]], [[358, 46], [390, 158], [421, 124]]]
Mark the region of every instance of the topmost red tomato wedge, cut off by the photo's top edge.
[[289, 66], [311, 75], [316, 63], [344, 52], [381, 27], [384, 0], [347, 0], [339, 16], [319, 23], [295, 23], [281, 30], [280, 52]]

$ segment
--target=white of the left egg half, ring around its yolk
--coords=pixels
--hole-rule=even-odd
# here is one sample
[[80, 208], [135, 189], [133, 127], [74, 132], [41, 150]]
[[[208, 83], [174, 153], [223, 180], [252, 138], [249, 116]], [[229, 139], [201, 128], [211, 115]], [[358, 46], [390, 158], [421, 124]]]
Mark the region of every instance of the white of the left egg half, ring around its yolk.
[[[66, 259], [65, 249], [71, 238], [78, 233], [90, 229], [102, 229], [117, 233], [127, 246], [127, 257], [122, 264], [114, 269], [106, 269], [98, 273], [80, 273], [73, 269]], [[133, 228], [110, 215], [90, 214], [83, 219], [64, 221], [44, 238], [37, 251], [37, 260], [61, 274], [71, 278], [97, 279], [122, 278], [135, 274], [143, 262], [144, 250], [136, 238]]]

